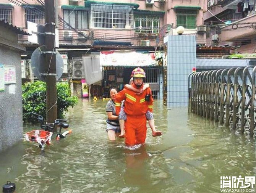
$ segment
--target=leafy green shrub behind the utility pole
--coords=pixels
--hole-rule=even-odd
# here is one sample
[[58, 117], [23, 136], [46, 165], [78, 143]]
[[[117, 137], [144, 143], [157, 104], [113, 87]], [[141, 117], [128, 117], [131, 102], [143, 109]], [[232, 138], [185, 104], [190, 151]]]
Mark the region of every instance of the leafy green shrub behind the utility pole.
[[[71, 96], [68, 84], [57, 83], [58, 119], [62, 119], [68, 107], [78, 103], [76, 96]], [[45, 118], [46, 113], [46, 84], [42, 81], [26, 83], [22, 86], [23, 121], [31, 121], [31, 113], [37, 113]]]

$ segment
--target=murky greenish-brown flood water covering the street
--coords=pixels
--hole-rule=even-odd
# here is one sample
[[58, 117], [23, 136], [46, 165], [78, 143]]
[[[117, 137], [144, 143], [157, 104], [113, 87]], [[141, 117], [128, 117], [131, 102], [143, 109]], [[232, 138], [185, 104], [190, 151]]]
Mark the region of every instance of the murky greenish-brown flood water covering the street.
[[[66, 114], [71, 135], [45, 147], [21, 141], [0, 153], [0, 185], [18, 193], [220, 192], [220, 176], [255, 176], [255, 139], [212, 121], [154, 105], [160, 137], [148, 127], [146, 145], [125, 148], [107, 140], [107, 101], [80, 100]], [[26, 131], [37, 129], [25, 125]]]

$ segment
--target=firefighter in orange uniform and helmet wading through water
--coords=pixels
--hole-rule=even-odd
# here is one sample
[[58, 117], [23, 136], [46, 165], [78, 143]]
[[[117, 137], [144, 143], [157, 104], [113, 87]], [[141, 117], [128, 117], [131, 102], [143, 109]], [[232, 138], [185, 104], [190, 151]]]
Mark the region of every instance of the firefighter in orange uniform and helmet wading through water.
[[[133, 87], [137, 89], [143, 88], [146, 73], [141, 68], [135, 68], [131, 77], [133, 77]], [[150, 88], [137, 95], [133, 90], [124, 88], [115, 95], [115, 105], [117, 114], [120, 112], [121, 102], [125, 100], [124, 111], [127, 115], [125, 121], [125, 143], [128, 146], [144, 143], [146, 140], [146, 112], [153, 111], [153, 98]]]

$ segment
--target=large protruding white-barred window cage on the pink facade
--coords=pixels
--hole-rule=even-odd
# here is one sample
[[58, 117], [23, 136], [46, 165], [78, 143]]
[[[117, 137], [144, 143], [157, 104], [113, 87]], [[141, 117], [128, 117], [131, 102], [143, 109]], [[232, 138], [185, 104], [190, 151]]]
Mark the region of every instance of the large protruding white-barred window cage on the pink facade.
[[119, 5], [91, 5], [92, 27], [131, 28], [133, 8]]

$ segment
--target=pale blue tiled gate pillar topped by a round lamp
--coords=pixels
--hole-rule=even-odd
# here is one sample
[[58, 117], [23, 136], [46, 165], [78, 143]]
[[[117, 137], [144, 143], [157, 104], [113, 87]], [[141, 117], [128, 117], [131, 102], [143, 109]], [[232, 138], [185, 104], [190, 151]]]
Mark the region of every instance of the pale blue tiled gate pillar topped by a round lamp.
[[187, 106], [188, 75], [196, 66], [196, 36], [169, 35], [166, 43], [167, 107]]

